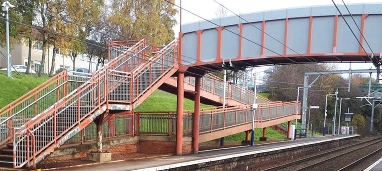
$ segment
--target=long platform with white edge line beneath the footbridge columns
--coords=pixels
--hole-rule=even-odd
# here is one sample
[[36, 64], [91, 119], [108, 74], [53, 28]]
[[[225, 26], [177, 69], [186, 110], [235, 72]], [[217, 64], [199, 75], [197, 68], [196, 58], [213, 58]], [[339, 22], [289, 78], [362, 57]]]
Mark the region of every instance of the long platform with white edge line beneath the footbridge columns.
[[[330, 143], [338, 140], [356, 138], [359, 135], [339, 135], [323, 136], [317, 138], [298, 139], [293, 141], [283, 141], [266, 143], [255, 146], [241, 146], [226, 149], [216, 149], [201, 151], [199, 154], [184, 156], [168, 156], [152, 159], [129, 160], [122, 162], [98, 163], [94, 165], [78, 166], [70, 168], [60, 168], [53, 171], [158, 171], [164, 169], [179, 168], [208, 162], [230, 160], [238, 157], [256, 156], [261, 153], [274, 153], [275, 151], [298, 149], [302, 146], [314, 146], [320, 143]], [[45, 169], [43, 169], [44, 171]], [[52, 171], [52, 169], [50, 169]]]

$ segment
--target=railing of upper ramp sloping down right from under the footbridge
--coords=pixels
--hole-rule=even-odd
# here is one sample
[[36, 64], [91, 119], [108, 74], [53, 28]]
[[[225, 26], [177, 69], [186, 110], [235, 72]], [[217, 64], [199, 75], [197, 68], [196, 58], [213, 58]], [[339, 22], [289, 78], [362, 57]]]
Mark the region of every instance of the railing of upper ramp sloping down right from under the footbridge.
[[[176, 79], [176, 78], [171, 78]], [[195, 86], [194, 77], [186, 77], [185, 83]], [[242, 103], [243, 105], [253, 104], [255, 93], [247, 90], [241, 86], [227, 83], [226, 84], [226, 98], [232, 99]], [[215, 95], [223, 97], [224, 95], [224, 80], [219, 77], [216, 77], [212, 74], [205, 74], [201, 79], [201, 89]], [[269, 103], [268, 99], [265, 99], [261, 96], [257, 96], [256, 103]]]

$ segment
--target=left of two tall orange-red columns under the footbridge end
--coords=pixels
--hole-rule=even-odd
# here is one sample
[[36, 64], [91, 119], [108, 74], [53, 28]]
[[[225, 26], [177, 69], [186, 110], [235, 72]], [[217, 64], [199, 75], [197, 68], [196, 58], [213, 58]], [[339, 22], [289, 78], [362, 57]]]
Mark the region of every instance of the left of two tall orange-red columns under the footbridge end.
[[176, 155], [182, 155], [183, 146], [183, 96], [185, 73], [178, 73]]

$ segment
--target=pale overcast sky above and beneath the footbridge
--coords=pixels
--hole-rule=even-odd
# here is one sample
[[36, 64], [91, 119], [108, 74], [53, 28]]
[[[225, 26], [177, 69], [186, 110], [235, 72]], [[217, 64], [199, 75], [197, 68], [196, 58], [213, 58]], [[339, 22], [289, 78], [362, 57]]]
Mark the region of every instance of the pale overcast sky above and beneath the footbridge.
[[[260, 12], [265, 10], [285, 9], [303, 6], [316, 6], [316, 5], [333, 5], [331, 0], [216, 0], [225, 7], [229, 8], [236, 14], [244, 14], [251, 12]], [[179, 5], [180, 0], [175, 0]], [[336, 4], [343, 4], [341, 0], [334, 0]], [[381, 3], [381, 0], [344, 0], [346, 4], [351, 3]], [[179, 8], [176, 7], [178, 10]], [[201, 17], [206, 19], [216, 18], [216, 11], [219, 8], [219, 4], [213, 0], [182, 0], [182, 8], [187, 9]], [[227, 10], [227, 16], [234, 15]], [[177, 25], [174, 27], [174, 32], [179, 32], [179, 13], [176, 16]], [[201, 18], [182, 11], [182, 24], [196, 22], [202, 20]], [[177, 35], [177, 34], [176, 34]], [[370, 69], [372, 64], [366, 63], [354, 63], [352, 69]], [[338, 64], [340, 70], [349, 69], [349, 63]], [[374, 67], [373, 67], [374, 68]], [[258, 72], [264, 71], [267, 67], [258, 67]], [[346, 76], [347, 77], [347, 76]], [[375, 75], [373, 76], [375, 77]]]

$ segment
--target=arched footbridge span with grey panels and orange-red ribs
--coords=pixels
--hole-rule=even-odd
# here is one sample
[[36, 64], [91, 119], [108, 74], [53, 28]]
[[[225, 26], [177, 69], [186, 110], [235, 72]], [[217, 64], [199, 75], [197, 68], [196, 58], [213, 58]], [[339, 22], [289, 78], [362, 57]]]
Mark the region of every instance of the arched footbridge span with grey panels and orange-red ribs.
[[[371, 62], [382, 52], [382, 3], [311, 6], [254, 12], [182, 25], [181, 59], [189, 71], [318, 62]], [[246, 22], [248, 21], [248, 22]]]

